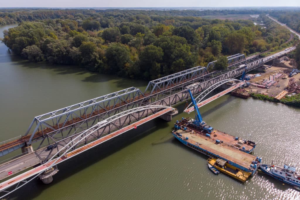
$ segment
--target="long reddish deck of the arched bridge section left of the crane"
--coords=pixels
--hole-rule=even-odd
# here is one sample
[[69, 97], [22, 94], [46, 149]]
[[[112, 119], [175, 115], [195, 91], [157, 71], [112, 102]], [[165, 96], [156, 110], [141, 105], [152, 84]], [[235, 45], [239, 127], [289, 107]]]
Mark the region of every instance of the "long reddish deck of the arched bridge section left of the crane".
[[91, 143], [89, 143], [87, 145], [79, 147], [78, 149], [75, 149], [74, 151], [71, 151], [70, 153], [64, 154], [64, 156], [61, 157], [56, 162], [55, 162], [55, 160], [54, 161], [50, 161], [49, 163], [46, 163], [46, 164], [41, 165], [41, 166], [38, 166], [38, 167], [36, 167], [34, 169], [31, 169], [31, 170], [29, 170], [27, 172], [22, 173], [21, 175], [18, 175], [16, 177], [13, 177], [13, 178], [7, 180], [7, 181], [4, 181], [3, 183], [0, 184], [0, 191], [5, 190], [5, 189], [13, 186], [14, 184], [19, 183], [22, 180], [25, 180], [25, 179], [27, 179], [29, 177], [32, 177], [33, 175], [36, 175], [36, 174], [38, 174], [40, 172], [44, 172], [47, 169], [47, 167], [51, 166], [54, 162], [55, 162], [55, 164], [61, 163], [64, 160], [67, 160], [67, 159], [69, 159], [69, 158], [71, 158], [71, 157], [73, 157], [73, 156], [75, 156], [75, 155], [77, 155], [77, 154], [79, 154], [79, 153], [81, 153], [83, 151], [86, 151], [89, 148], [92, 148], [92, 147], [94, 147], [96, 145], [99, 145], [99, 144], [101, 144], [101, 143], [103, 143], [103, 142], [105, 142], [105, 141], [107, 141], [109, 139], [112, 139], [112, 138], [114, 138], [114, 137], [116, 137], [116, 136], [118, 136], [118, 135], [120, 135], [120, 134], [122, 134], [122, 133], [124, 133], [124, 132], [126, 132], [128, 130], [134, 129], [134, 127], [136, 127], [138, 125], [141, 125], [141, 124], [144, 124], [147, 121], [152, 120], [153, 118], [156, 118], [156, 117], [158, 117], [160, 115], [163, 115], [163, 114], [165, 114], [167, 112], [170, 112], [171, 110], [173, 110], [173, 109], [171, 109], [171, 108], [164, 109], [164, 110], [162, 110], [160, 112], [157, 112], [157, 113], [155, 113], [155, 114], [153, 114], [153, 115], [151, 115], [149, 117], [146, 117], [146, 118], [144, 118], [144, 119], [142, 119], [140, 121], [137, 121], [137, 122], [135, 122], [133, 124], [130, 124], [129, 126], [124, 127], [122, 129], [114, 132], [114, 133], [111, 133], [111, 134], [109, 134], [107, 136], [104, 136], [104, 137], [98, 139], [98, 140], [95, 140], [94, 142], [91, 142]]

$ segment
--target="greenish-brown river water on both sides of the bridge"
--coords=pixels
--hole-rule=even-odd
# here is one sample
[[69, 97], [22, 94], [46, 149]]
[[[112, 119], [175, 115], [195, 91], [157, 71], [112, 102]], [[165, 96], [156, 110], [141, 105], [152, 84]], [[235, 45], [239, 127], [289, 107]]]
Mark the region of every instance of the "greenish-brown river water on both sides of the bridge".
[[[0, 37], [4, 29], [0, 27]], [[99, 75], [76, 66], [29, 63], [0, 44], [0, 140], [24, 134], [34, 116], [147, 82]], [[204, 156], [171, 135], [173, 121], [154, 119], [58, 166], [54, 181], [32, 181], [9, 199], [300, 199], [262, 174], [240, 183], [212, 174]], [[262, 163], [300, 166], [300, 109], [225, 95], [200, 108], [215, 129], [258, 142]]]

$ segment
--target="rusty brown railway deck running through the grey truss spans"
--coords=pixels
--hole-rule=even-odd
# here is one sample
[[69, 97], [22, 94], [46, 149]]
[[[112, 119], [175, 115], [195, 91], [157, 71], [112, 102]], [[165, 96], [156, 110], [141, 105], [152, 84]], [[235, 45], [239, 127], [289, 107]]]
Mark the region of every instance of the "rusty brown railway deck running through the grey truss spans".
[[[205, 74], [206, 74], [206, 73], [203, 73], [203, 75], [205, 75]], [[196, 78], [197, 78], [197, 77], [196, 77]], [[193, 79], [196, 79], [196, 78], [193, 78]], [[193, 80], [193, 79], [183, 80], [183, 81], [181, 81], [179, 84], [182, 84], [182, 83], [184, 83], [184, 82], [187, 82], [187, 81], [190, 81], [190, 80]], [[178, 84], [178, 85], [179, 85], [179, 84]], [[171, 85], [169, 85], [166, 89], [172, 88], [172, 87], [174, 87], [174, 86], [175, 86], [175, 84], [171, 84]], [[153, 94], [155, 94], [155, 93], [156, 93], [156, 91], [153, 92]], [[145, 97], [147, 97], [147, 96], [150, 95], [150, 93], [146, 93], [146, 94], [144, 94], [144, 95], [145, 95]], [[87, 115], [83, 114], [83, 115], [81, 115], [81, 118], [82, 118], [83, 120], [85, 120], [85, 119], [87, 119], [87, 118], [91, 118], [91, 117], [97, 116], [97, 115], [99, 115], [99, 114], [101, 114], [101, 113], [104, 113], [104, 112], [106, 112], [107, 110], [111, 110], [111, 109], [113, 109], [113, 108], [115, 109], [115, 108], [118, 108], [118, 107], [120, 107], [120, 106], [123, 106], [123, 105], [125, 105], [125, 104], [127, 104], [127, 103], [132, 103], [132, 102], [134, 102], [134, 101], [141, 100], [141, 99], [143, 99], [143, 98], [144, 98], [144, 96], [143, 96], [143, 95], [140, 95], [139, 97], [135, 97], [134, 99], [130, 99], [130, 100], [126, 101], [126, 102], [118, 103], [115, 107], [110, 106], [110, 107], [106, 107], [106, 109], [96, 110], [96, 111], [94, 111], [94, 112], [91, 113], [91, 114], [87, 114]], [[78, 123], [78, 122], [80, 122], [80, 121], [83, 121], [81, 118], [76, 117], [76, 118], [73, 118], [72, 120], [67, 121], [67, 122], [65, 123], [64, 127], [68, 127], [69, 125], [72, 125], [72, 124]], [[59, 125], [53, 126], [53, 128], [54, 128], [54, 129], [57, 129], [58, 127], [61, 127], [63, 124], [64, 124], [64, 122], [60, 123]], [[35, 133], [35, 135], [33, 136], [32, 140], [38, 139], [38, 138], [40, 138], [40, 137], [43, 137], [43, 133], [44, 133], [44, 134], [47, 134], [47, 133], [50, 133], [50, 132], [52, 132], [52, 131], [53, 131], [53, 130], [50, 129], [50, 128], [44, 129], [43, 132], [42, 132], [41, 130], [40, 130], [40, 131], [37, 131], [37, 132]], [[29, 141], [29, 139], [30, 139], [31, 136], [32, 136], [32, 134], [28, 134], [27, 136], [23, 136], [23, 137], [20, 138], [20, 139], [16, 139], [16, 140], [13, 140], [13, 141], [4, 143], [4, 144], [0, 145], [0, 151], [4, 151], [4, 150], [9, 149], [9, 148], [12, 148], [12, 147], [14, 147], [14, 146], [16, 146], [16, 145], [22, 145], [22, 144], [24, 144], [26, 141]]]

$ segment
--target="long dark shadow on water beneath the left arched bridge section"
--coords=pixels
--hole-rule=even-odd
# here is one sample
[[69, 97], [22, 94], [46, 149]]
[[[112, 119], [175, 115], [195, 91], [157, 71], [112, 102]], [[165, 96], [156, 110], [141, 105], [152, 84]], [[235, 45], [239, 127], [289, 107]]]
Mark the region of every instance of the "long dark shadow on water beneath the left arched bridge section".
[[[53, 176], [53, 182], [51, 184], [46, 185], [43, 184], [41, 180], [32, 180], [6, 198], [29, 200], [38, 197], [43, 190], [46, 190], [53, 184], [57, 184], [64, 179], [67, 179], [68, 177], [84, 170], [88, 166], [91, 166], [103, 160], [104, 158], [121, 151], [126, 146], [137, 142], [138, 140], [148, 136], [150, 133], [153, 133], [153, 129], [163, 129], [167, 126], [167, 122], [158, 118], [146, 124], [142, 124], [139, 126], [138, 134], [137, 131], [130, 130], [127, 133], [115, 137], [107, 142], [102, 143], [101, 145], [77, 155], [74, 158], [67, 160], [67, 162], [59, 164], [59, 172]], [[101, 154], [99, 154], [99, 152], [101, 152]], [[70, 187], [72, 187], [72, 185], [70, 185]], [[23, 194], [26, 194], [26, 196]]]

